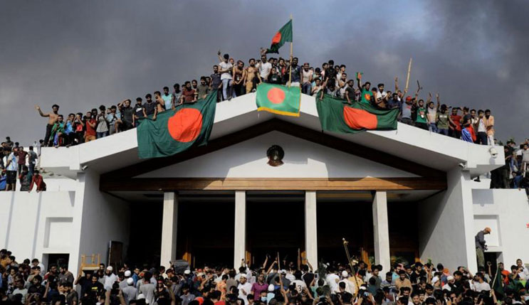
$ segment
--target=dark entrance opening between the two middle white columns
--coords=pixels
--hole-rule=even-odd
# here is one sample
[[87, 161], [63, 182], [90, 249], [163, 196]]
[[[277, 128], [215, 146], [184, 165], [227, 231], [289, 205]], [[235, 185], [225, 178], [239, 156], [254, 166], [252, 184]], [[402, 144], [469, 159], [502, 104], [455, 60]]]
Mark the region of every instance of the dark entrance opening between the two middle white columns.
[[246, 195], [246, 250], [252, 264], [273, 261], [297, 264], [304, 250], [305, 193], [248, 192]]

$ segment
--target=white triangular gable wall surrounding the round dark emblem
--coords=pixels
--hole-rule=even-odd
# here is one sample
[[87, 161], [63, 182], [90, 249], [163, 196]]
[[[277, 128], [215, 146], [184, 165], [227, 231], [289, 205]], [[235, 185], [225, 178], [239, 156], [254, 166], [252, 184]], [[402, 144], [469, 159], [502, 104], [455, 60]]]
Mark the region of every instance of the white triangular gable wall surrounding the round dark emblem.
[[[323, 135], [322, 137], [325, 137]], [[281, 166], [268, 165], [272, 145], [285, 152]], [[418, 177], [392, 166], [273, 131], [135, 178], [365, 178]]]

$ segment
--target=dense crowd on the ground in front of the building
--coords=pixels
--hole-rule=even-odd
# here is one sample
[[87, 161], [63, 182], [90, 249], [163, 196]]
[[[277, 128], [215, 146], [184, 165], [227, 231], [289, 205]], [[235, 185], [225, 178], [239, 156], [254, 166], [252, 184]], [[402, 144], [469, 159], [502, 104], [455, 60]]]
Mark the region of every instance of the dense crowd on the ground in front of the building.
[[493, 305], [528, 304], [529, 270], [521, 259], [506, 269], [449, 270], [432, 262], [377, 264], [279, 262], [266, 259], [237, 269], [190, 268], [182, 260], [164, 266], [44, 268], [38, 259], [19, 263], [0, 250], [1, 304], [54, 305]]

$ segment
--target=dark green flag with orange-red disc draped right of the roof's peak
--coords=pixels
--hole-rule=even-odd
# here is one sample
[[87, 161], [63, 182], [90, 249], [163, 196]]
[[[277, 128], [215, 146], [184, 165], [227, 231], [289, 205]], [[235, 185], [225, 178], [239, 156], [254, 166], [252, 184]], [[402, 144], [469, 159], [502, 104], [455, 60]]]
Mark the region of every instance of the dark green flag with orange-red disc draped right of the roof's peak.
[[339, 133], [356, 133], [372, 129], [397, 129], [399, 109], [378, 109], [370, 104], [347, 101], [330, 95], [316, 97], [318, 117], [323, 130]]

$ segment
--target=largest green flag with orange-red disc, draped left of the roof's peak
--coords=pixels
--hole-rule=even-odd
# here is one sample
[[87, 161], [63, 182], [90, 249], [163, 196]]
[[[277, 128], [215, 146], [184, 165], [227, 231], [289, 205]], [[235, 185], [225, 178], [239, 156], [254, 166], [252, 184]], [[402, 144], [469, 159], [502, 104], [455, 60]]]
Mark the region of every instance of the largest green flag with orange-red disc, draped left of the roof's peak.
[[205, 145], [213, 128], [216, 91], [192, 104], [158, 114], [156, 121], [143, 119], [136, 129], [140, 159], [171, 156], [189, 147]]

